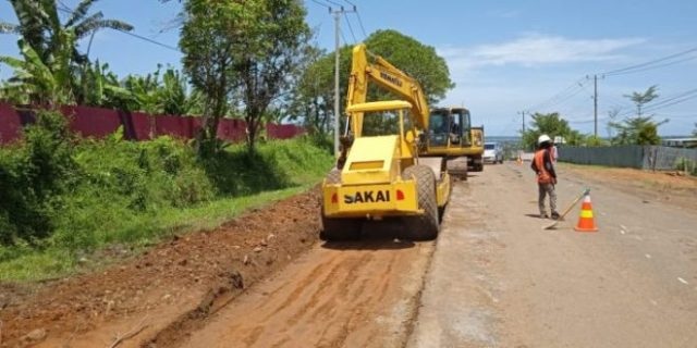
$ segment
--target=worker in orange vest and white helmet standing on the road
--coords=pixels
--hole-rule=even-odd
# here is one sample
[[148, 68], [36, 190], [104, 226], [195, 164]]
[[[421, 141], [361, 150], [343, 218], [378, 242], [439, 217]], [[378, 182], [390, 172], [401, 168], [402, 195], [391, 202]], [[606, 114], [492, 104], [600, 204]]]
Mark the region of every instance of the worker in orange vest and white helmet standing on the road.
[[549, 217], [545, 208], [545, 197], [549, 195], [549, 207], [552, 210], [552, 219], [557, 220], [559, 219], [559, 213], [557, 212], [557, 192], [554, 192], [557, 173], [554, 172], [551, 156], [552, 139], [550, 139], [547, 134], [542, 134], [537, 139], [537, 146], [535, 159], [533, 159], [530, 167], [537, 173], [537, 187], [539, 190], [537, 204], [540, 208], [540, 217]]

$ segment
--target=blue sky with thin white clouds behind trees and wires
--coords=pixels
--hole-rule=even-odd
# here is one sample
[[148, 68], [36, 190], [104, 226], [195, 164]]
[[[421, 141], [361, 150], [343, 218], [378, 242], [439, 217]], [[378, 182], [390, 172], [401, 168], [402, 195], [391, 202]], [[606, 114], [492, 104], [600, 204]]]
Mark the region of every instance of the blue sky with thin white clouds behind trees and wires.
[[[345, 0], [306, 0], [307, 22], [316, 42], [333, 50], [333, 18], [317, 2], [351, 8]], [[334, 3], [331, 3], [334, 2]], [[607, 136], [609, 111], [620, 119], [633, 109], [623, 95], [659, 86], [653, 113], [670, 119], [661, 135], [687, 135], [697, 122], [697, 50], [637, 72], [608, 74], [697, 48], [697, 1], [416, 1], [351, 0], [365, 30], [391, 28], [433, 46], [445, 58], [456, 87], [440, 102], [465, 104], [473, 122], [488, 135], [515, 135], [521, 111], [559, 111], [573, 128], [592, 133], [592, 80], [598, 74], [598, 133]], [[64, 0], [75, 7], [77, 1]], [[171, 26], [178, 1], [102, 0], [94, 10], [126, 21], [134, 33], [176, 46]], [[348, 44], [365, 38], [355, 14], [342, 16]], [[0, 2], [0, 20], [15, 23], [9, 1]], [[346, 22], [351, 23], [354, 35]], [[354, 39], [355, 36], [355, 39]], [[86, 45], [86, 42], [83, 42]], [[0, 36], [0, 54], [16, 54], [16, 37]], [[119, 75], [148, 73], [157, 63], [180, 66], [181, 54], [118, 32], [100, 32], [90, 58], [108, 62]], [[0, 67], [0, 76], [10, 74]], [[676, 97], [673, 103], [670, 98]], [[685, 100], [685, 101], [683, 101]], [[663, 104], [660, 102], [663, 101]], [[529, 119], [529, 117], [528, 117]]]

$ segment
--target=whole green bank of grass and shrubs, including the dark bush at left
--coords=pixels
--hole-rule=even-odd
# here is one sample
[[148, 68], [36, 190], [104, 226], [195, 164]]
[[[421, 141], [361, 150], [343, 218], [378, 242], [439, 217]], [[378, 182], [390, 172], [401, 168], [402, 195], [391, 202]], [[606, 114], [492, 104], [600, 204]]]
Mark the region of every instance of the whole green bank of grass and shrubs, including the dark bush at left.
[[254, 152], [230, 145], [200, 158], [170, 137], [76, 139], [62, 115], [37, 119], [22, 144], [0, 148], [3, 281], [58, 276], [109, 256], [99, 251], [129, 254], [163, 236], [215, 227], [307, 189], [333, 160], [306, 138]]

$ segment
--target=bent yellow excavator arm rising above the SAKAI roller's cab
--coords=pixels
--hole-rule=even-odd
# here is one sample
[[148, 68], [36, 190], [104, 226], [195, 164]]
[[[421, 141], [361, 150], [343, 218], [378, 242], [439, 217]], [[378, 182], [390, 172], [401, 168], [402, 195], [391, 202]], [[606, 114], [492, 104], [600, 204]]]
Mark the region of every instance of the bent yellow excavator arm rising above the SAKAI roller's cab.
[[[395, 94], [412, 104], [412, 119], [417, 128], [428, 129], [429, 109], [424, 90], [418, 82], [390, 64], [379, 55], [372, 55], [375, 62], [368, 62], [368, 51], [363, 44], [353, 48], [351, 76], [348, 78], [347, 107], [366, 102], [368, 83]], [[353, 113], [351, 128], [355, 136], [363, 133], [363, 113]]]

